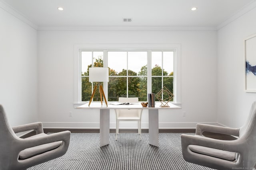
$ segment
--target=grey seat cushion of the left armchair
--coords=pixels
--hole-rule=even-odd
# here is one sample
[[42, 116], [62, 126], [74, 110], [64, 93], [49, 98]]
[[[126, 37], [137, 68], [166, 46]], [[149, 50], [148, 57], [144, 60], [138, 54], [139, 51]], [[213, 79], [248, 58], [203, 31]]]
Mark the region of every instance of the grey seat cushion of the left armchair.
[[[34, 135], [34, 136], [28, 137], [26, 139], [33, 139], [33, 138], [42, 137], [42, 136], [47, 136], [47, 134], [40, 133], [38, 135]], [[61, 144], [62, 144], [62, 141], [57, 141], [57, 142], [53, 142], [53, 143], [47, 143], [47, 144], [44, 144], [44, 145], [39, 145], [39, 146], [36, 146], [36, 147], [31, 147], [31, 148], [24, 149], [20, 152], [19, 159], [31, 158], [31, 157], [36, 156], [38, 154], [42, 154], [44, 152], [56, 149]]]

